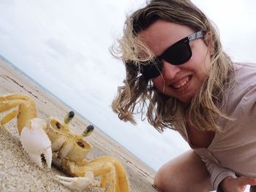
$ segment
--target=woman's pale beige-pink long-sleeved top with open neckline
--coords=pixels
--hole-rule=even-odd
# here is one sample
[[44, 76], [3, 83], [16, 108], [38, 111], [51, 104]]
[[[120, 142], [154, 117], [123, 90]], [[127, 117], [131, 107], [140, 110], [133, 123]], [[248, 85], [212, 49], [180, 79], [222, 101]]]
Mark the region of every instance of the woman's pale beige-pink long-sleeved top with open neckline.
[[[211, 185], [217, 190], [227, 176], [256, 177], [256, 64], [234, 64], [236, 82], [227, 91], [224, 112], [235, 120], [218, 120], [222, 133], [207, 148], [189, 142], [184, 123], [179, 133], [206, 163]], [[179, 126], [179, 125], [178, 125]]]

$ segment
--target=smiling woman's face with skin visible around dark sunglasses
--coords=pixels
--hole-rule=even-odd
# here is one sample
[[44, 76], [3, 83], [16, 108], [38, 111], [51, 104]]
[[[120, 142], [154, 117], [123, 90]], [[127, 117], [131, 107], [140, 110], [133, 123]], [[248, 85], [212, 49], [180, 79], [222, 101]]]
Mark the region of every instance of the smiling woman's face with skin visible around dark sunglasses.
[[[138, 37], [146, 43], [154, 55], [161, 55], [170, 45], [195, 33], [187, 26], [157, 20], [141, 31]], [[203, 81], [206, 80], [210, 65], [210, 54], [203, 39], [189, 42], [192, 57], [184, 64], [172, 65], [162, 59], [162, 75], [152, 78], [154, 86], [167, 96], [173, 96], [182, 102], [189, 102], [195, 96]]]

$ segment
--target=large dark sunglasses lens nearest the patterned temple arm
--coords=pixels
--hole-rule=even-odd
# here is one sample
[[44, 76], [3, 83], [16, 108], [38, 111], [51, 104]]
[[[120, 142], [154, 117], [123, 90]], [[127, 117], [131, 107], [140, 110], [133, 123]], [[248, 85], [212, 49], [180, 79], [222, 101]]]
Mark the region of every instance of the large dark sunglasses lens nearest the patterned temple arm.
[[173, 65], [184, 64], [191, 58], [192, 52], [189, 42], [177, 42], [165, 50], [161, 58]]

